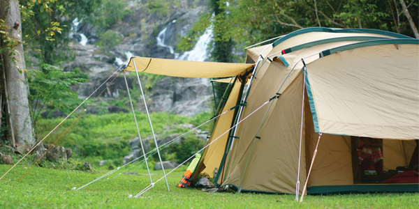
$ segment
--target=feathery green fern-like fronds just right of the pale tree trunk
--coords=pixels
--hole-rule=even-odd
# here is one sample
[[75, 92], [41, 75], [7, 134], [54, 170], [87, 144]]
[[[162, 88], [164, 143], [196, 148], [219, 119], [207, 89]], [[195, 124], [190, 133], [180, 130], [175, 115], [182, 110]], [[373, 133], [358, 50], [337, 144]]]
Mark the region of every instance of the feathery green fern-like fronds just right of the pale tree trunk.
[[[66, 109], [68, 104], [62, 102], [61, 98], [77, 98], [77, 93], [71, 91], [70, 86], [86, 82], [87, 79], [78, 77], [74, 72], [64, 72], [54, 65], [43, 64], [41, 70], [29, 70], [30, 101], [36, 101], [41, 105], [40, 109], [33, 110], [34, 124], [39, 113], [47, 104], [51, 109]], [[80, 75], [80, 72], [79, 72]], [[38, 111], [38, 113], [37, 113]]]

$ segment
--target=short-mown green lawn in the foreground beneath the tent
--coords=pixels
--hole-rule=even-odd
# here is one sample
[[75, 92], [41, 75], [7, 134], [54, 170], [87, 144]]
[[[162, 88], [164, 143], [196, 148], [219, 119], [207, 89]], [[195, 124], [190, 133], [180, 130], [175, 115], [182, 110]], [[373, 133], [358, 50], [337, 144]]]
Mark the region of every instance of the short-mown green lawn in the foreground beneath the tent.
[[[11, 166], [0, 165], [2, 176]], [[123, 169], [121, 169], [124, 171]], [[293, 195], [206, 193], [180, 189], [184, 169], [168, 176], [170, 192], [161, 180], [138, 199], [128, 198], [149, 185], [148, 176], [122, 174], [104, 179], [79, 191], [80, 187], [107, 171], [54, 170], [34, 167], [20, 182], [27, 167], [17, 166], [0, 180], [0, 208], [419, 208], [419, 194], [351, 194], [306, 196], [303, 203]], [[168, 172], [168, 171], [166, 171]], [[140, 173], [147, 173], [140, 170]], [[153, 180], [163, 175], [153, 171]], [[112, 178], [110, 176], [110, 178]]]

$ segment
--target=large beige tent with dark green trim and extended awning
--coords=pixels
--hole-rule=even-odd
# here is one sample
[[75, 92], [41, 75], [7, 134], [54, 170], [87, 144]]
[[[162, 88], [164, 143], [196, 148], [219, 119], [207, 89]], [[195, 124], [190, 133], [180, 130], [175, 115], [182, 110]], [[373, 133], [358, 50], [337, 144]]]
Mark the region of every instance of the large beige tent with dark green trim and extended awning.
[[419, 139], [418, 57], [419, 40], [407, 36], [318, 27], [248, 49], [246, 64], [136, 57], [126, 70], [235, 76], [192, 180], [207, 173], [239, 192], [306, 194], [306, 180], [307, 194], [418, 192], [419, 183], [363, 182], [356, 153], [358, 137], [383, 139], [383, 169], [409, 166]]

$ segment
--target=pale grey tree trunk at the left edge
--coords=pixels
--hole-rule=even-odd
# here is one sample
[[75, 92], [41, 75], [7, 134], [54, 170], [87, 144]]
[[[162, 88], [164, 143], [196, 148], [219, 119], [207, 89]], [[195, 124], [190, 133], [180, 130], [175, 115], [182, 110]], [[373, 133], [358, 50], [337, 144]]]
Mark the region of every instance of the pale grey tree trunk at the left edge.
[[[22, 22], [20, 21], [19, 2], [17, 0], [0, 0], [0, 19], [8, 26], [8, 36], [22, 40]], [[6, 43], [1, 41], [1, 47]], [[13, 123], [16, 144], [24, 147], [35, 143], [29, 114], [28, 86], [25, 77], [23, 45], [15, 46], [17, 53], [10, 54], [10, 49], [3, 53], [3, 64], [6, 71], [6, 87], [10, 104], [10, 118]], [[13, 61], [15, 59], [15, 61]]]

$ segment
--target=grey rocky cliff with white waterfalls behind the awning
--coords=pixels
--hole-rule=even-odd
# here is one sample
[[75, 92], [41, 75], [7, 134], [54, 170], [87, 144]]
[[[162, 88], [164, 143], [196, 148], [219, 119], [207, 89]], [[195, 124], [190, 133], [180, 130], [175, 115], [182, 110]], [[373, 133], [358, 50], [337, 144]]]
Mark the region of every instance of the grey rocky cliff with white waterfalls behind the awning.
[[[75, 58], [70, 63], [65, 63], [64, 69], [72, 71], [79, 68], [81, 72], [88, 73], [89, 82], [75, 86], [73, 90], [78, 91], [80, 98], [86, 98], [131, 56], [207, 61], [210, 29], [198, 40], [191, 52], [178, 53], [176, 50], [177, 43], [182, 36], [189, 33], [193, 23], [207, 9], [206, 6], [206, 0], [184, 0], [179, 6], [168, 8], [162, 14], [150, 13], [143, 1], [130, 1], [128, 9], [131, 13], [110, 27], [122, 37], [122, 41], [108, 51], [97, 45], [99, 36], [91, 25], [83, 20], [74, 20], [74, 42], [71, 43], [71, 48], [75, 50]], [[142, 79], [145, 77], [142, 76]], [[143, 88], [146, 82], [142, 82]], [[208, 79], [159, 78], [156, 84], [147, 86], [147, 105], [150, 111], [167, 111], [189, 116], [208, 111], [208, 104], [212, 102], [212, 88], [207, 88], [209, 84]], [[128, 75], [128, 86], [138, 86], [136, 77]], [[126, 92], [126, 86], [124, 77], [120, 75], [104, 92], [103, 100], [120, 99], [122, 95], [126, 96], [122, 92]], [[144, 109], [142, 98], [133, 99], [137, 104], [136, 109]]]

